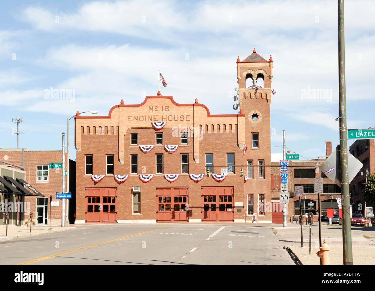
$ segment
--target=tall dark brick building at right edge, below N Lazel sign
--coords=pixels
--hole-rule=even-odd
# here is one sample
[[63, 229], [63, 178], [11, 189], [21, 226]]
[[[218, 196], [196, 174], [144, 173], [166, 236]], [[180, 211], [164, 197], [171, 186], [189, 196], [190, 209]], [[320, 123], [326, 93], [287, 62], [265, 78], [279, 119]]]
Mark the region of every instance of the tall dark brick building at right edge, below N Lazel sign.
[[374, 139], [358, 139], [349, 147], [349, 152], [354, 155], [362, 164], [362, 169], [350, 183], [350, 197], [353, 198], [353, 213], [364, 214], [365, 201], [363, 200], [363, 190], [366, 185], [366, 172], [375, 172], [375, 145]]

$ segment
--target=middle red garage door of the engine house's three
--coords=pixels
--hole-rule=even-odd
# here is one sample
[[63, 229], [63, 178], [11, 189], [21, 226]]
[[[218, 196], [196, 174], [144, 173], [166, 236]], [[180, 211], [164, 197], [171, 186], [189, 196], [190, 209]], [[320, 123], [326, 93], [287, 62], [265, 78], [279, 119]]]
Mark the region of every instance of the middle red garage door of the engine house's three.
[[156, 188], [156, 221], [188, 222], [187, 188]]

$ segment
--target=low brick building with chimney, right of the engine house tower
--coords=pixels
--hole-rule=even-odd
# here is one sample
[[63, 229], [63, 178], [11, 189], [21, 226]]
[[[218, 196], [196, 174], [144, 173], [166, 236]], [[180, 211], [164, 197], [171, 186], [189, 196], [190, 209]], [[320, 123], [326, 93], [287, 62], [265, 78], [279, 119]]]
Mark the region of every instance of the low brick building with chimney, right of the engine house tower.
[[[341, 197], [341, 188], [336, 185], [330, 178], [324, 175], [319, 169], [315, 167], [304, 167], [304, 166], [320, 166], [323, 164], [329, 155], [332, 153], [332, 142], [326, 142], [326, 155], [318, 157], [316, 160], [310, 161], [297, 161], [290, 160], [290, 167], [288, 172], [288, 191], [294, 191], [294, 187], [297, 185], [303, 186], [304, 197], [301, 197], [302, 214], [312, 212], [314, 214], [314, 220], [318, 220], [318, 194], [314, 194], [314, 179], [323, 178], [323, 193], [320, 195], [321, 201], [321, 216], [327, 214], [327, 208], [333, 208], [334, 211], [338, 211], [338, 204], [336, 198]], [[280, 193], [280, 167], [279, 161], [272, 161], [272, 202], [273, 202], [273, 222], [282, 223], [282, 205], [279, 203]], [[290, 198], [288, 203], [287, 220], [290, 222], [293, 216], [300, 215], [299, 198]]]

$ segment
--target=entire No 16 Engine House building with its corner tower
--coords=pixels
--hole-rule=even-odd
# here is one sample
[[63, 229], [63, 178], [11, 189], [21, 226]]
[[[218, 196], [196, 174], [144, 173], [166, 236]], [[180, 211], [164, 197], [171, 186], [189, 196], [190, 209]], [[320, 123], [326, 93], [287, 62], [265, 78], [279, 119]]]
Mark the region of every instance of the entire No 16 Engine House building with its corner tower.
[[196, 96], [179, 104], [158, 92], [121, 100], [108, 116], [77, 115], [76, 223], [245, 222], [245, 211], [248, 222], [253, 213], [271, 222], [271, 168], [258, 166], [270, 164], [272, 64], [255, 49], [237, 59], [239, 114], [211, 115]]

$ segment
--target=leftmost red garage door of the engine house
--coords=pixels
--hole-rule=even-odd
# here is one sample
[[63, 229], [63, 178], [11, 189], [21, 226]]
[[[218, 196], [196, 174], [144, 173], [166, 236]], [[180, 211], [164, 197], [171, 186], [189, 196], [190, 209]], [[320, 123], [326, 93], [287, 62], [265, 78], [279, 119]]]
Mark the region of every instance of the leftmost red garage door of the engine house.
[[86, 189], [86, 223], [117, 222], [117, 189]]

